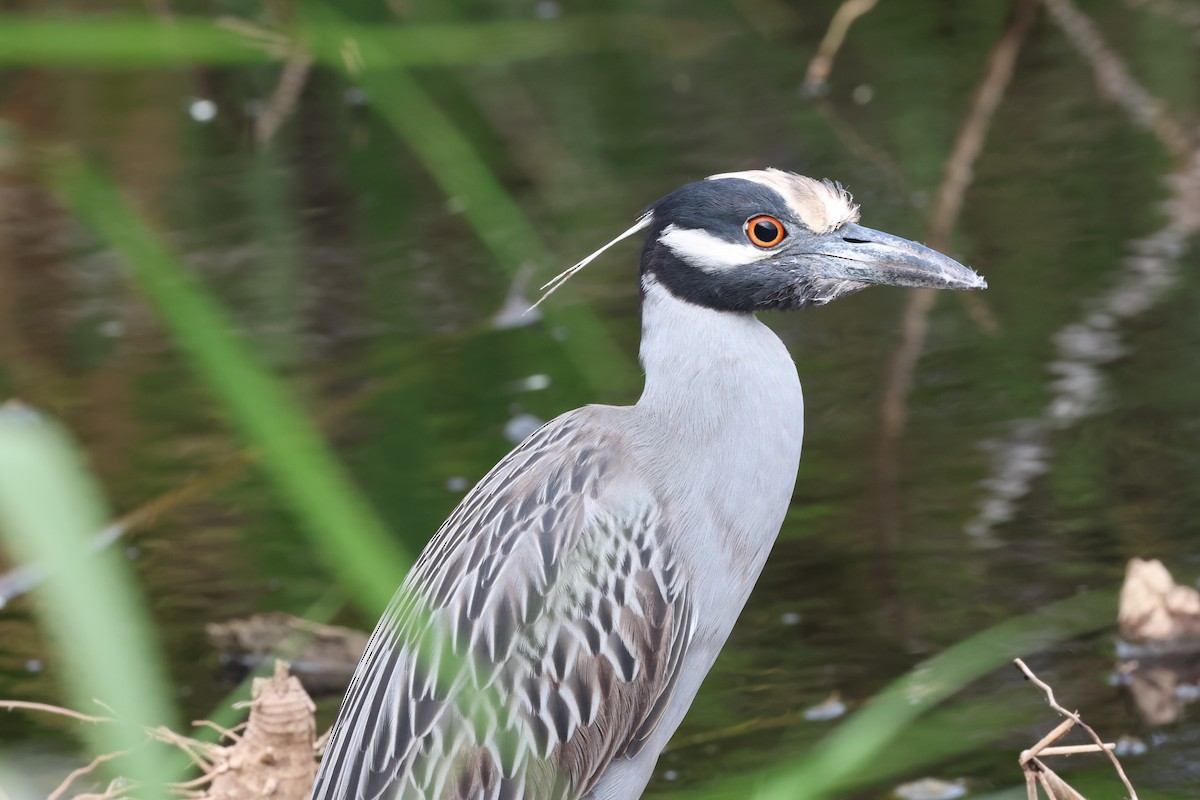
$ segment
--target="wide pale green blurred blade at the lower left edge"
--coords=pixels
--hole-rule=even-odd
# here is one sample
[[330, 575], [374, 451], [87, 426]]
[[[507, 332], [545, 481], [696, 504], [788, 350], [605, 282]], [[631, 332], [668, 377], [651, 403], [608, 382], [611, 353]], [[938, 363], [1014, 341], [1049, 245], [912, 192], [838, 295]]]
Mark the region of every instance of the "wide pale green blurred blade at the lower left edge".
[[72, 708], [107, 716], [96, 699], [121, 721], [80, 732], [96, 753], [131, 750], [121, 770], [144, 784], [139, 796], [164, 796], [155, 787], [173, 777], [169, 760], [140, 726], [174, 723], [175, 711], [133, 576], [112, 551], [91, 552], [107, 517], [66, 433], [34, 411], [0, 410], [0, 539], [17, 561], [47, 572], [36, 606]]

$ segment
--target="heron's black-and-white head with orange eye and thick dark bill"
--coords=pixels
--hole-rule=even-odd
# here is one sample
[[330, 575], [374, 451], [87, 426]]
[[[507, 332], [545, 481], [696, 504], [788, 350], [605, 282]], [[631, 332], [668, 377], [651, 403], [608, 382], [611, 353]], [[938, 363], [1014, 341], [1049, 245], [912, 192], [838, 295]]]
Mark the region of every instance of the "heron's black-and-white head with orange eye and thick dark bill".
[[929, 247], [860, 225], [858, 206], [836, 184], [778, 169], [688, 184], [638, 223], [648, 230], [643, 279], [720, 311], [821, 306], [872, 283], [988, 285]]

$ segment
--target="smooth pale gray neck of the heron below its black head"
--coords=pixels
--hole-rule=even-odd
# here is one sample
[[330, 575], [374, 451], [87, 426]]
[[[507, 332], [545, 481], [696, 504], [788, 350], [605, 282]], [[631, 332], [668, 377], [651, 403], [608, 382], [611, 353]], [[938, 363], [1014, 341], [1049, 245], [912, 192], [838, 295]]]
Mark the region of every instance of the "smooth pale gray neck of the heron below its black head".
[[631, 421], [647, 477], [692, 516], [682, 530], [710, 540], [694, 542], [695, 552], [719, 546], [749, 593], [796, 483], [804, 433], [796, 365], [754, 314], [684, 302], [653, 276], [643, 288], [646, 390]]

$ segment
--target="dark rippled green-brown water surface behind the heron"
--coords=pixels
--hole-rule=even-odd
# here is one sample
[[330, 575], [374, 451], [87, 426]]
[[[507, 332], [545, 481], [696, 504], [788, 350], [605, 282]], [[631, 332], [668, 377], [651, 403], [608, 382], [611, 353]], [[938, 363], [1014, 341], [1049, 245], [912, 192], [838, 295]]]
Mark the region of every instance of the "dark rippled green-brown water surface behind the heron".
[[[391, 5], [340, 10], [380, 25], [557, 16], [553, 25], [582, 11]], [[588, 11], [624, 16], [545, 55], [361, 80], [316, 66], [265, 145], [254, 144], [252, 112], [276, 89], [277, 65], [10, 64], [0, 71], [0, 397], [62, 420], [121, 513], [244, 447], [113, 254], [26, 169], [36, 145], [71, 144], [325, 415], [354, 480], [416, 552], [512, 446], [506, 426], [636, 399], [636, 245], [577, 276], [546, 320], [500, 329], [514, 282], [535, 296], [677, 185], [761, 166], [836, 179], [865, 224], [926, 237], [1008, 6], [880, 4], [851, 30], [817, 104], [802, 91], [804, 70], [836, 5], [616, 4]], [[31, 10], [23, 6], [0, 4]], [[1200, 29], [1164, 7], [1109, 0], [1084, 11], [1194, 128]], [[247, 2], [175, 11], [271, 20]], [[652, 25], [668, 34], [642, 36]], [[558, 29], [547, 30], [553, 44]], [[414, 150], [403, 133], [410, 85], [498, 180], [503, 209], [469, 166], [431, 164], [445, 139]], [[881, 408], [908, 296], [871, 289], [768, 319], [805, 389], [796, 497], [652, 794], [786, 760], [836, 724], [802, 716], [832, 692], [858, 708], [984, 627], [1114, 590], [1130, 557], [1162, 558], [1181, 583], [1200, 575], [1200, 257], [1186, 235], [1171, 237], [1163, 207], [1180, 192], [1169, 180], [1178, 169], [1098, 94], [1091, 67], [1040, 12], [948, 246], [990, 289], [979, 307], [937, 299], [890, 456]], [[448, 197], [439, 184], [455, 180], [478, 193]], [[1188, 213], [1200, 211], [1176, 211]], [[1168, 255], [1139, 272], [1130, 254], [1160, 253], [1164, 235]], [[230, 688], [208, 622], [304, 614], [353, 594], [335, 587], [298, 528], [248, 468], [116, 545], [149, 599], [186, 718], [208, 715]], [[336, 621], [374, 621], [338, 607]], [[1195, 712], [1145, 724], [1109, 682], [1114, 637], [1109, 627], [1068, 640], [1032, 664], [1106, 738], [1148, 745], [1126, 760], [1145, 796], [1189, 796], [1200, 777]], [[61, 699], [55, 648], [26, 600], [0, 612], [0, 697]], [[1056, 718], [1007, 670], [966, 698], [982, 705], [913, 732], [850, 790], [883, 796], [926, 774], [965, 777], [977, 794], [1018, 786], [1018, 753]], [[323, 720], [335, 706], [323, 703]], [[72, 726], [5, 715], [0, 742], [10, 759], [56, 765], [72, 752]], [[910, 751], [925, 753], [919, 765], [906, 765]], [[1078, 766], [1096, 772], [1080, 787], [1117, 796], [1115, 782], [1099, 782], [1100, 762]]]

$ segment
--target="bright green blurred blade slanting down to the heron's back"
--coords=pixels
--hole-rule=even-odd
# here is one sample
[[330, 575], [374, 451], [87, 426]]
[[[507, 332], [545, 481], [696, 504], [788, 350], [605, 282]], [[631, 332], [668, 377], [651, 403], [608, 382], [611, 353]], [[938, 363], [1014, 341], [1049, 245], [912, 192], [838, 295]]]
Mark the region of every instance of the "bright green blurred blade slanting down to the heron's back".
[[382, 608], [410, 561], [296, 399], [108, 178], [71, 156], [49, 175], [62, 203], [121, 259], [342, 585], [367, 608]]

